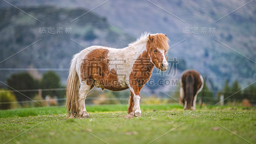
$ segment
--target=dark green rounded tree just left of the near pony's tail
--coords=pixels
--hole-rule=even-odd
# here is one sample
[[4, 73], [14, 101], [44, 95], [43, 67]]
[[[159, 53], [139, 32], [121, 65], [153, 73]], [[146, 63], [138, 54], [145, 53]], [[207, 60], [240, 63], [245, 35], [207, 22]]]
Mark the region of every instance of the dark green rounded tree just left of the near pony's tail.
[[[63, 88], [60, 84], [60, 76], [53, 71], [48, 71], [43, 74], [43, 77], [40, 81], [41, 89], [56, 89]], [[42, 97], [45, 98], [46, 95], [50, 95], [51, 97], [57, 96], [58, 98], [65, 97], [65, 91], [43, 91]]]

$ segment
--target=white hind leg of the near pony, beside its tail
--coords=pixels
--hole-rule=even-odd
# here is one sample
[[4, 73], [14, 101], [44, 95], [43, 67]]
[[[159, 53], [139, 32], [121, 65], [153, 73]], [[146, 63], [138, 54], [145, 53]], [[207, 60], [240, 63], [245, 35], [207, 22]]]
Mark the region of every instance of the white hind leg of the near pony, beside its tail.
[[79, 97], [79, 117], [83, 117], [83, 118], [89, 118], [89, 114], [86, 111], [85, 108], [85, 98], [87, 93], [92, 89], [91, 85], [87, 85], [87, 84], [82, 84], [81, 83], [81, 87], [79, 88], [79, 93], [78, 93], [78, 97]]

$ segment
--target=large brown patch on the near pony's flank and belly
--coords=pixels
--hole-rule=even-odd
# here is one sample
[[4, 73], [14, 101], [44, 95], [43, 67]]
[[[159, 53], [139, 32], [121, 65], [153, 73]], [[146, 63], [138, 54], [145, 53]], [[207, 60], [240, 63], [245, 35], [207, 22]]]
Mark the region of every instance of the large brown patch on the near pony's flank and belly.
[[108, 49], [100, 48], [89, 52], [81, 64], [81, 81], [111, 91], [128, 89], [128, 86], [122, 87], [119, 84], [115, 69], [109, 71], [107, 57]]

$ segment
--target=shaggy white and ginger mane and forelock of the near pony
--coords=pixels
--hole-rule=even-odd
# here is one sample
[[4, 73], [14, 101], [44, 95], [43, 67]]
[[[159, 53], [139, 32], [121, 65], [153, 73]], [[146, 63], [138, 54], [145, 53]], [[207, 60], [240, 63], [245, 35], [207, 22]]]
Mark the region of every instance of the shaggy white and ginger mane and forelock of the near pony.
[[151, 34], [151, 33], [147, 33], [145, 32], [144, 34], [141, 34], [140, 37], [137, 38], [136, 41], [128, 44], [128, 46], [133, 46], [133, 45], [137, 45], [137, 44], [142, 44], [142, 43], [147, 43], [148, 40], [148, 35], [150, 35], [151, 37], [153, 37], [153, 43], [152, 46], [156, 47], [160, 50], [164, 50], [164, 51], [168, 51], [169, 49], [169, 38], [166, 37], [164, 34]]

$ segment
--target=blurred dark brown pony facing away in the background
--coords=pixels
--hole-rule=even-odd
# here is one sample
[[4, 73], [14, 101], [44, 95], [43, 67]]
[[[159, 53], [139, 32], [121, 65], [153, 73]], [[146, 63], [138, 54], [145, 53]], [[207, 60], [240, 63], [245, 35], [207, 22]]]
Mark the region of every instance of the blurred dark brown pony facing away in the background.
[[204, 79], [196, 70], [188, 69], [181, 74], [179, 100], [185, 110], [196, 109], [196, 97], [203, 86]]

